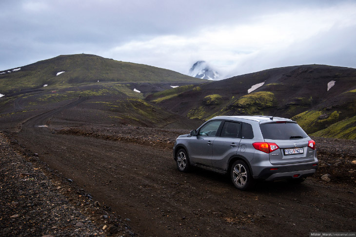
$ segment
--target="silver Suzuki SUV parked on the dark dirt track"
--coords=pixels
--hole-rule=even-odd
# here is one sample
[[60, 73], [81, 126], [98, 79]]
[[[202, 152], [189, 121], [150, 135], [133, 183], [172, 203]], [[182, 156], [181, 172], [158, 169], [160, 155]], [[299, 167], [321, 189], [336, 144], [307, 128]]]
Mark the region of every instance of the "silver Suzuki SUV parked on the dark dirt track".
[[218, 116], [173, 147], [179, 171], [199, 166], [230, 173], [241, 190], [257, 179], [303, 182], [318, 167], [315, 142], [296, 122], [270, 116]]

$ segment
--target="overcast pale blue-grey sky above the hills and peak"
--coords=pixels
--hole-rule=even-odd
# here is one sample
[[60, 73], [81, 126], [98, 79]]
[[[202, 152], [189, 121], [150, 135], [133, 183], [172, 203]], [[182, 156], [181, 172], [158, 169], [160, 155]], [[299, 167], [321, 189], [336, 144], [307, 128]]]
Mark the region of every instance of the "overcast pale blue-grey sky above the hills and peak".
[[356, 0], [1, 0], [0, 35], [0, 71], [83, 52], [225, 77], [356, 68]]

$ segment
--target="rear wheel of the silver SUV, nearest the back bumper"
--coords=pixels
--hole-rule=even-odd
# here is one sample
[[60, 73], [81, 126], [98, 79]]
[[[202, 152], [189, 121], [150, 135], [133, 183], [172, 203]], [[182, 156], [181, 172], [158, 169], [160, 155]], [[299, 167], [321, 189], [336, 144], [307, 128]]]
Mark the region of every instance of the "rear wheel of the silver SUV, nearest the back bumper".
[[243, 161], [236, 161], [230, 170], [231, 181], [240, 190], [247, 190], [255, 185], [255, 180], [251, 175], [248, 165]]

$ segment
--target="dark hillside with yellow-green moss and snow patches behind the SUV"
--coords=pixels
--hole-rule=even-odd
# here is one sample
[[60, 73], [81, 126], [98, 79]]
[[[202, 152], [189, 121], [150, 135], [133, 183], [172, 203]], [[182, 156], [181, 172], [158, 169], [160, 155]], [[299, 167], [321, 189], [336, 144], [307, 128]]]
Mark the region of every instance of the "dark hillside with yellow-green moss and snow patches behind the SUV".
[[297, 120], [313, 133], [355, 116], [355, 89], [356, 69], [302, 65], [214, 81], [163, 100], [153, 97], [160, 106], [189, 118], [276, 114]]

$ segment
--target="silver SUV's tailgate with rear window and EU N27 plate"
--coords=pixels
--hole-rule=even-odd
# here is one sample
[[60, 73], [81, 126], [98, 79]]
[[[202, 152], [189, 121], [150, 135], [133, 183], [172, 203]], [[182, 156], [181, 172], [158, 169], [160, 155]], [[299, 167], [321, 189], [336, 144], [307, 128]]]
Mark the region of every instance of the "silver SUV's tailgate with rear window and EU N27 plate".
[[271, 164], [295, 164], [314, 161], [310, 137], [293, 121], [276, 121], [260, 124], [265, 142], [278, 148], [269, 153]]

